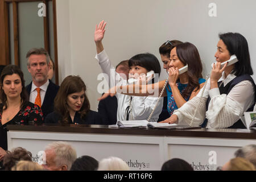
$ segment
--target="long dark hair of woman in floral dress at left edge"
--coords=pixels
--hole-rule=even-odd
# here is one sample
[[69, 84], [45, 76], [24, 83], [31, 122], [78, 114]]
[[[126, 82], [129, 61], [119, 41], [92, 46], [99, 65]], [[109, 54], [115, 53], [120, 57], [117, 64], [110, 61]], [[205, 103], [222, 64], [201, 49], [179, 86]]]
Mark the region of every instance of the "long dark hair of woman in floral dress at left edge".
[[19, 75], [20, 80], [22, 82], [22, 92], [20, 93], [20, 98], [21, 98], [21, 106], [20, 107], [23, 107], [23, 105], [26, 104], [26, 102], [28, 101], [28, 93], [25, 88], [25, 80], [23, 77], [23, 72], [16, 65], [11, 65], [11, 64], [7, 65], [5, 68], [3, 68], [3, 71], [2, 71], [1, 77], [0, 77], [0, 80], [1, 80], [0, 100], [3, 104], [4, 110], [7, 109], [7, 102], [6, 102], [7, 97], [6, 97], [5, 91], [3, 90], [3, 79], [5, 79], [5, 77], [7, 75], [13, 75], [13, 74]]

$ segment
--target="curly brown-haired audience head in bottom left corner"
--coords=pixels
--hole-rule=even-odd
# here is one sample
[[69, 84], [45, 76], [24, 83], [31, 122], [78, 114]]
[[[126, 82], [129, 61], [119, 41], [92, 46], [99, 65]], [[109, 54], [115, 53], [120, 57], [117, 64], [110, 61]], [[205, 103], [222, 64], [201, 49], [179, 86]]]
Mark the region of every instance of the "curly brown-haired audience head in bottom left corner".
[[14, 148], [12, 151], [6, 151], [6, 155], [3, 158], [3, 168], [6, 171], [11, 171], [11, 168], [20, 160], [32, 161], [31, 152], [22, 147]]

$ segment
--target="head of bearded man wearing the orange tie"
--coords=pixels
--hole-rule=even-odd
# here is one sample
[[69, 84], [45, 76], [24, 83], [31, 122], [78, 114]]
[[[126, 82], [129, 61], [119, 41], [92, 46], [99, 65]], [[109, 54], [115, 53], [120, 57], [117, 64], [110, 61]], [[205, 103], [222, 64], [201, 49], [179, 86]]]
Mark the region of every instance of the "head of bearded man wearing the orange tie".
[[48, 80], [50, 67], [49, 53], [44, 48], [32, 48], [27, 52], [27, 69], [36, 86], [41, 86]]

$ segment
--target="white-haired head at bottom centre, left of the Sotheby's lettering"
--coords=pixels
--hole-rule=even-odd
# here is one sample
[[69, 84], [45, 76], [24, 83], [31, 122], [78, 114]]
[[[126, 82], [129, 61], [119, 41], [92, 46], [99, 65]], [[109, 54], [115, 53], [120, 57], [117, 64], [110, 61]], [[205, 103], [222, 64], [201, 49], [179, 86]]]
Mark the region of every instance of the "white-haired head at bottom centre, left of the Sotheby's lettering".
[[102, 159], [98, 164], [98, 171], [129, 171], [130, 168], [126, 162], [120, 158], [109, 157]]

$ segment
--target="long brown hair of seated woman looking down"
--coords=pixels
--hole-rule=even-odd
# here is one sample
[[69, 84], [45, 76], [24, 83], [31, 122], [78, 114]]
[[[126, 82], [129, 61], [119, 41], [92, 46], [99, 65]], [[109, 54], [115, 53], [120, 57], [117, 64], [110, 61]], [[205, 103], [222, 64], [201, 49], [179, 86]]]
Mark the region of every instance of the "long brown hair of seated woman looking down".
[[[61, 82], [60, 89], [54, 100], [55, 111], [62, 116], [62, 120], [59, 121], [60, 123], [68, 123], [68, 95], [76, 92], [81, 92], [83, 90], [84, 92], [86, 91], [86, 86], [84, 84], [84, 81], [82, 81], [79, 76], [69, 75], [64, 78], [63, 82]], [[88, 113], [89, 109], [90, 102], [85, 94], [84, 103], [82, 104], [82, 107], [78, 112], [80, 114], [80, 117], [83, 118]]]

